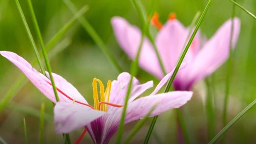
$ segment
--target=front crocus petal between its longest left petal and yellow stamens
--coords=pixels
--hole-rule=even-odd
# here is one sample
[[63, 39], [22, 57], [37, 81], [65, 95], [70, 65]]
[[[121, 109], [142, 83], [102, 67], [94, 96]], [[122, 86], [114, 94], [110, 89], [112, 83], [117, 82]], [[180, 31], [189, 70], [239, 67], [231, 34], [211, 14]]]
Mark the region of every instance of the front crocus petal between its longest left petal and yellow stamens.
[[[45, 72], [45, 73], [47, 77], [50, 78], [49, 73], [48, 72]], [[63, 78], [62, 76], [56, 73], [52, 73], [52, 75], [54, 78], [55, 85], [59, 89], [61, 89], [62, 91], [65, 91], [65, 93], [71, 98], [88, 104], [87, 101], [84, 99], [84, 97], [79, 93], [79, 91], [77, 91], [77, 89], [72, 84], [70, 84], [67, 80], [65, 80], [65, 78]], [[70, 100], [67, 100], [66, 97], [61, 97], [61, 98], [64, 99], [63, 101], [70, 101]]]

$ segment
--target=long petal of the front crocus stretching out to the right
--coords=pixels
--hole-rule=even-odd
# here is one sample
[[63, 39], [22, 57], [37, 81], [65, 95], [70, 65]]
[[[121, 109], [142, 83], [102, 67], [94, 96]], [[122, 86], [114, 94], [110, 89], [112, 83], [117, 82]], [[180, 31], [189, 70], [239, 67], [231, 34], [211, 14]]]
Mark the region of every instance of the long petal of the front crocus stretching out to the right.
[[[192, 95], [192, 91], [172, 91], [139, 98], [128, 104], [125, 123], [144, 118], [155, 105], [155, 110], [150, 116], [156, 116], [170, 109], [179, 108], [187, 103]], [[122, 110], [119, 111], [122, 112]]]

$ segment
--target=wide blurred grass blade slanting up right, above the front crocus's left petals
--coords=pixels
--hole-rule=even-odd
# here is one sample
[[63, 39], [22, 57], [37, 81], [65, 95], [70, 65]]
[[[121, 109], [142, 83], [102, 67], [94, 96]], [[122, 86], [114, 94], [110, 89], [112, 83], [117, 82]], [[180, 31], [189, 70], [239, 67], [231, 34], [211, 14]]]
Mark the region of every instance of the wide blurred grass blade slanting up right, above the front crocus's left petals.
[[54, 47], [60, 39], [63, 37], [64, 34], [67, 33], [67, 31], [76, 23], [77, 18], [81, 17], [86, 11], [88, 11], [88, 6], [83, 6], [82, 9], [80, 9], [72, 19], [68, 21], [54, 36], [53, 38], [45, 45], [45, 50]]

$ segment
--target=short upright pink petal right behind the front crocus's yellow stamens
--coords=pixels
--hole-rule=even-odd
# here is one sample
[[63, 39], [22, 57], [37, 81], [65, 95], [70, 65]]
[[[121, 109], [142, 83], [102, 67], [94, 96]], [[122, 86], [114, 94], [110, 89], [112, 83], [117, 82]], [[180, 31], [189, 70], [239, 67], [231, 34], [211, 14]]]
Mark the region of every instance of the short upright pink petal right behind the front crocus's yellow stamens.
[[[110, 92], [110, 103], [123, 104], [126, 96], [126, 92], [129, 86], [131, 75], [127, 72], [123, 72], [118, 75], [117, 80], [112, 82]], [[149, 81], [145, 84], [140, 84], [136, 77], [133, 77], [131, 94], [129, 101], [136, 99], [148, 88], [153, 87], [153, 81]], [[110, 107], [111, 109], [111, 107]]]

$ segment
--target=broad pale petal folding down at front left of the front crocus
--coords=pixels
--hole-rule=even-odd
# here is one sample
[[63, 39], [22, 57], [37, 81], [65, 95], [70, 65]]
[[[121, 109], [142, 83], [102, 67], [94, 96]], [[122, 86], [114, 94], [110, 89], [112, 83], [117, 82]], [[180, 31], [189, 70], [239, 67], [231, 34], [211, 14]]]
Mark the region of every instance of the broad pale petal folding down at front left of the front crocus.
[[68, 102], [57, 102], [54, 107], [54, 122], [57, 133], [69, 133], [82, 128], [105, 112], [90, 107]]

